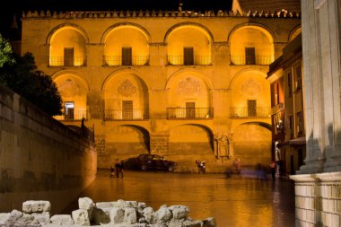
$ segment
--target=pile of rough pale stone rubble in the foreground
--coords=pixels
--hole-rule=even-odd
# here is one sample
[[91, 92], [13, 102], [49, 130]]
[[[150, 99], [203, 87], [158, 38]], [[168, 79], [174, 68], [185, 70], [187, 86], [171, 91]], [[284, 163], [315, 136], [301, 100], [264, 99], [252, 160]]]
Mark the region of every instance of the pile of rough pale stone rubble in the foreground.
[[215, 218], [203, 221], [188, 217], [186, 205], [162, 205], [159, 210], [136, 201], [93, 203], [89, 197], [78, 199], [79, 209], [72, 214], [50, 217], [48, 201], [30, 200], [22, 203], [22, 212], [0, 213], [0, 227], [216, 227]]

